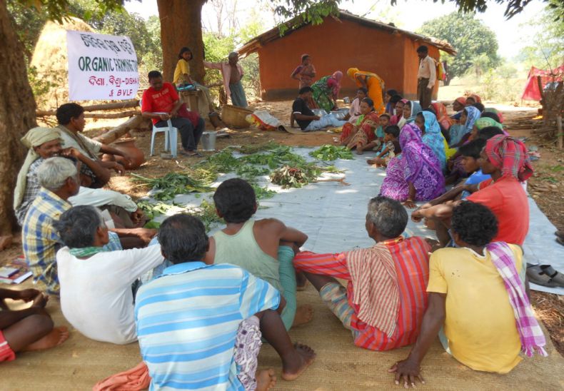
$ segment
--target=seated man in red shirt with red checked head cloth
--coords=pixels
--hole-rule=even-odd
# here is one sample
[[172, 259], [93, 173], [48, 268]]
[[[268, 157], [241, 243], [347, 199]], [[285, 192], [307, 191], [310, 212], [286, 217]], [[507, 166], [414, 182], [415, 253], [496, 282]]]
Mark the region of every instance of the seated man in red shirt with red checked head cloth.
[[[466, 199], [481, 203], [492, 210], [498, 219], [498, 235], [494, 241], [523, 245], [529, 230], [529, 203], [520, 181], [533, 175], [527, 147], [517, 139], [497, 135], [490, 138], [480, 153], [482, 173], [491, 178], [477, 185], [463, 186], [470, 191]], [[461, 190], [459, 190], [460, 193]], [[411, 218], [435, 220], [437, 237], [441, 245], [447, 245], [453, 208], [460, 201], [431, 205], [427, 203], [413, 211]]]

